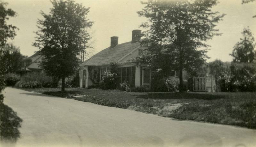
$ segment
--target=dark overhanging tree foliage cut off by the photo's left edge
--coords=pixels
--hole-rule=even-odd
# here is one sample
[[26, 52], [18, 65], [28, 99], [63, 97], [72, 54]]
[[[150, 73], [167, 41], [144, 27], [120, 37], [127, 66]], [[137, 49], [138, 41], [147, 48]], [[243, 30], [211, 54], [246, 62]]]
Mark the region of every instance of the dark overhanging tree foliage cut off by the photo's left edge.
[[[15, 31], [18, 30], [16, 26], [12, 26], [11, 24], [6, 24], [6, 20], [9, 19], [9, 17], [14, 17], [16, 15], [16, 12], [12, 9], [8, 8], [6, 9], [6, 5], [8, 3], [0, 1], [0, 47], [2, 48], [7, 39], [11, 38], [13, 39], [16, 35]], [[4, 74], [7, 72], [6, 61], [4, 60], [4, 52], [2, 49], [0, 49], [0, 104], [2, 104], [4, 100], [4, 95], [2, 94], [2, 91], [5, 87], [4, 82]]]

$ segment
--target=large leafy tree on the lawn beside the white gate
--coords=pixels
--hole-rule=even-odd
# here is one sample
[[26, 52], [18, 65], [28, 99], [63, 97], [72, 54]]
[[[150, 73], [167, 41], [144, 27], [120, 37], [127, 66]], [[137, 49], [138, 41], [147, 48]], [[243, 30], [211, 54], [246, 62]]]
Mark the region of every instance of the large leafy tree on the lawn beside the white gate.
[[182, 71], [193, 71], [204, 63], [207, 49], [200, 48], [209, 47], [204, 42], [220, 35], [215, 26], [224, 14], [211, 11], [216, 0], [148, 1], [142, 4], [145, 7], [138, 14], [149, 21], [140, 25], [147, 29], [143, 32], [146, 39], [142, 41], [142, 45], [149, 45], [144, 55], [146, 61], [166, 75], [170, 69], [179, 70], [182, 91]]

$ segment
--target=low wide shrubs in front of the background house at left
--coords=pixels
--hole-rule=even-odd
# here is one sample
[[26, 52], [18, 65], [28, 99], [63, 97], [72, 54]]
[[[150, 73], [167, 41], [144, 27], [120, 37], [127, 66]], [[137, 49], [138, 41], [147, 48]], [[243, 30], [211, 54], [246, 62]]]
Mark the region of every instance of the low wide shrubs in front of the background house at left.
[[20, 77], [20, 81], [15, 84], [20, 88], [42, 88], [52, 87], [52, 77], [42, 72], [30, 72]]

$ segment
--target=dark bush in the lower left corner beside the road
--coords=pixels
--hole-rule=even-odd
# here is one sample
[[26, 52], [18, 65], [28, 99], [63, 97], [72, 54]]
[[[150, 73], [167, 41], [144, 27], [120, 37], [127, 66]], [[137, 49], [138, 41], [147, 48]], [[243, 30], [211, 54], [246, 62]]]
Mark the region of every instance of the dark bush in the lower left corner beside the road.
[[17, 113], [12, 108], [1, 103], [1, 144], [2, 142], [16, 143], [20, 137], [22, 119], [17, 116]]

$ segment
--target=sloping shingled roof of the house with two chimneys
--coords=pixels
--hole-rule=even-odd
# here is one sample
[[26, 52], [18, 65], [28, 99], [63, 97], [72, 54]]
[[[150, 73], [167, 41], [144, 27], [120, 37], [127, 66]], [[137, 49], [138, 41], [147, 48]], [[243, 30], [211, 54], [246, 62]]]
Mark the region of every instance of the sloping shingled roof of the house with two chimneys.
[[135, 48], [140, 47], [140, 41], [131, 43], [126, 42], [117, 44], [113, 48], [106, 48], [99, 53], [93, 55], [91, 58], [81, 63], [80, 66], [101, 66], [108, 65], [111, 62], [117, 62], [119, 59], [129, 54]]

